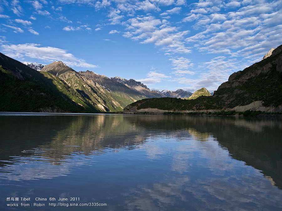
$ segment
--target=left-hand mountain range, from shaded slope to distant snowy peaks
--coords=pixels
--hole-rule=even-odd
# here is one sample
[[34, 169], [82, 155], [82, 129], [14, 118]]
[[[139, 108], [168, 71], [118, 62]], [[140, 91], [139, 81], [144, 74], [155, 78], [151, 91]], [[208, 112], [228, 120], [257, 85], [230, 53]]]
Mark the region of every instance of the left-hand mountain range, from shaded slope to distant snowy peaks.
[[181, 89], [150, 90], [133, 79], [108, 78], [88, 70], [77, 72], [62, 61], [44, 66], [21, 63], [0, 53], [0, 65], [0, 111], [115, 112], [144, 98], [192, 94]]

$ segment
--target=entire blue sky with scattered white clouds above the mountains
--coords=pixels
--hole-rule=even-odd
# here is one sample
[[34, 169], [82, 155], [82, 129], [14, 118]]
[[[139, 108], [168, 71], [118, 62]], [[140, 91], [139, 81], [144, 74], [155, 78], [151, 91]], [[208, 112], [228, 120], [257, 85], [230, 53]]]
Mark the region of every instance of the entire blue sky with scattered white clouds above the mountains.
[[282, 44], [282, 0], [0, 0], [0, 51], [209, 91]]

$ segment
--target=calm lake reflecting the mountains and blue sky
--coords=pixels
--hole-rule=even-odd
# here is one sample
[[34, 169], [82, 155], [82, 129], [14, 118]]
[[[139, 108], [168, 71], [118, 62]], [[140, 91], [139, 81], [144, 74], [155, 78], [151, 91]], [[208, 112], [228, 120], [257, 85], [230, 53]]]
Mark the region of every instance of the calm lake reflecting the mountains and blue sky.
[[282, 120], [2, 113], [0, 210], [282, 210]]

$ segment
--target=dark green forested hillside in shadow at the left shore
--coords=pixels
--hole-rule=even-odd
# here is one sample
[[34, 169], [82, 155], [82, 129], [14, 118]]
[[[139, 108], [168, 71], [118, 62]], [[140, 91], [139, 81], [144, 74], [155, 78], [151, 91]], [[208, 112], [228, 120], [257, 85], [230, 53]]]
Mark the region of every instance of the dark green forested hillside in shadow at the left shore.
[[0, 111], [91, 112], [72, 102], [67, 95], [58, 96], [34, 82], [20, 80], [3, 68], [0, 68]]

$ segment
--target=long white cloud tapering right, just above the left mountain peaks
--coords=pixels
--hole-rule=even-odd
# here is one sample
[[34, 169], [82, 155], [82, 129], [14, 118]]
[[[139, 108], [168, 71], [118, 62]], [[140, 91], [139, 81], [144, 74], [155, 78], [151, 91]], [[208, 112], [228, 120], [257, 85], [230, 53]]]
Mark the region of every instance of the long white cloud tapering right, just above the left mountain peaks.
[[54, 48], [54, 47], [42, 47], [39, 44], [26, 43], [18, 45], [2, 45], [3, 52], [16, 59], [24, 59], [26, 57], [32, 59], [39, 59], [46, 62], [64, 61], [65, 64], [77, 67], [96, 68], [97, 65], [88, 64], [83, 59], [76, 58], [73, 54], [67, 53], [67, 50]]

